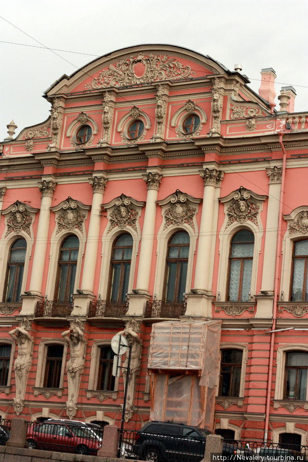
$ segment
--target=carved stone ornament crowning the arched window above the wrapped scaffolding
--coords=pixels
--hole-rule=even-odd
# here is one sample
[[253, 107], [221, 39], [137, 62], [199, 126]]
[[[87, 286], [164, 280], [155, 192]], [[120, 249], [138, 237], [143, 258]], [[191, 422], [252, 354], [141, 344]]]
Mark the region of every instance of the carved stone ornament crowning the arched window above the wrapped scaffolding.
[[174, 194], [170, 194], [158, 204], [163, 207], [164, 227], [171, 225], [187, 224], [195, 230], [194, 219], [197, 214], [201, 199], [186, 194], [177, 189]]

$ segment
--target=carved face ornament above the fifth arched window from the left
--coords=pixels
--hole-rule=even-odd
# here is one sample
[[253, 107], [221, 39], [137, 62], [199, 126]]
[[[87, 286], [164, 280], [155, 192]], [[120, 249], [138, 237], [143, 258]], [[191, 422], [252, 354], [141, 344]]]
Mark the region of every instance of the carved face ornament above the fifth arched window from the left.
[[227, 216], [226, 227], [234, 222], [245, 223], [251, 221], [256, 226], [259, 226], [258, 216], [262, 201], [265, 201], [266, 196], [260, 196], [255, 192], [241, 186], [228, 196], [220, 198], [220, 201], [225, 205], [225, 214]]

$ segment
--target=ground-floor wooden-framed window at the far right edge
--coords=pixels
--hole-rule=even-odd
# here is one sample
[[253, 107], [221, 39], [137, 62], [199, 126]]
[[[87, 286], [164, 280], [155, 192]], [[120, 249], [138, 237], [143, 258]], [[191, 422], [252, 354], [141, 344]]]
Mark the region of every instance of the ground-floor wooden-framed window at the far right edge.
[[290, 351], [285, 358], [284, 398], [306, 400], [308, 353]]

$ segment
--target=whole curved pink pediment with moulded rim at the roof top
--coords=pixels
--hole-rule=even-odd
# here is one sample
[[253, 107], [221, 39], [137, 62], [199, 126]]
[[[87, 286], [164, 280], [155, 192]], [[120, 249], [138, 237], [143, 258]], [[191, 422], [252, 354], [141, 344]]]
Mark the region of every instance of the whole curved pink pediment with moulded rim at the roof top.
[[46, 94], [192, 79], [226, 69], [195, 51], [171, 45], [139, 45], [114, 51], [52, 85]]

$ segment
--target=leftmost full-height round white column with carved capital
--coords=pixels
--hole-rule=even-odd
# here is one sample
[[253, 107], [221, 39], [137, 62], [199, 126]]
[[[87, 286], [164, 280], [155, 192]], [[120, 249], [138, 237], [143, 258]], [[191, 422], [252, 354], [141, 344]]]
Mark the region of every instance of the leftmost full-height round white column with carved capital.
[[38, 217], [35, 251], [29, 287], [29, 291], [32, 293], [32, 295], [42, 294], [42, 280], [48, 241], [50, 207], [55, 186], [56, 183], [53, 181], [43, 180], [42, 182], [38, 183], [38, 187], [42, 192], [42, 200], [40, 216]]

